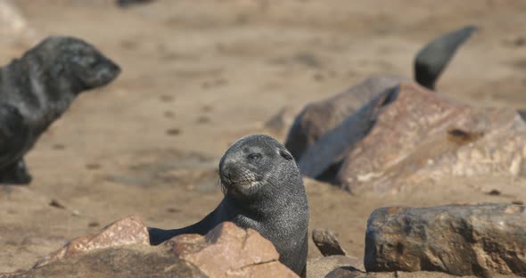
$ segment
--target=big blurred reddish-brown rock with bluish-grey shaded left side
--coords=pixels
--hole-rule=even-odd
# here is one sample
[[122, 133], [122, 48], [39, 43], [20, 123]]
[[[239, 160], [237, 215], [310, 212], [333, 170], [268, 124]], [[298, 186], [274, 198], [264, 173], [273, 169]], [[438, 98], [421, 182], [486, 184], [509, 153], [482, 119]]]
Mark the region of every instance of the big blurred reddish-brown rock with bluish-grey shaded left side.
[[351, 192], [398, 192], [445, 176], [523, 176], [525, 145], [515, 110], [470, 107], [403, 82], [323, 135], [299, 163], [305, 175]]

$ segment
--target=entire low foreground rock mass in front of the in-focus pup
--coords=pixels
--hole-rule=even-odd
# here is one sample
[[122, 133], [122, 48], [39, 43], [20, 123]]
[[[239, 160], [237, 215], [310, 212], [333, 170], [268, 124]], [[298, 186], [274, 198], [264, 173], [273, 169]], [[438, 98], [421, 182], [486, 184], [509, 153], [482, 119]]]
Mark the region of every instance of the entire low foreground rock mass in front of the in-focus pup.
[[298, 277], [272, 242], [225, 222], [205, 236], [182, 234], [149, 244], [146, 226], [127, 217], [70, 241], [27, 272], [0, 277]]

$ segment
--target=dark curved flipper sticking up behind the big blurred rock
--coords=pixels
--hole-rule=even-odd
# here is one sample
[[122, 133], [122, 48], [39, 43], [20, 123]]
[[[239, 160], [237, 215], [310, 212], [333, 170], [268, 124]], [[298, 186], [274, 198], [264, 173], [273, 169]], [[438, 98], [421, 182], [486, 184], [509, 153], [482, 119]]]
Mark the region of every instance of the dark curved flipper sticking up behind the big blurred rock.
[[415, 81], [431, 90], [440, 74], [448, 66], [449, 61], [462, 45], [478, 28], [473, 25], [456, 29], [425, 45], [415, 58]]

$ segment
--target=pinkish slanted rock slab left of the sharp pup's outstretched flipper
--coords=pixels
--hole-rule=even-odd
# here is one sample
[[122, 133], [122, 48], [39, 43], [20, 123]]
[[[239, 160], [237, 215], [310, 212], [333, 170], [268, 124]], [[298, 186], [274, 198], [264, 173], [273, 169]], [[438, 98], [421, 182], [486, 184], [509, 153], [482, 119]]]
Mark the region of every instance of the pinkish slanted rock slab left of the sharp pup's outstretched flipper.
[[107, 249], [130, 244], [150, 244], [148, 229], [140, 217], [126, 217], [107, 225], [98, 233], [78, 237], [37, 262], [45, 266], [63, 258], [79, 257], [97, 249]]

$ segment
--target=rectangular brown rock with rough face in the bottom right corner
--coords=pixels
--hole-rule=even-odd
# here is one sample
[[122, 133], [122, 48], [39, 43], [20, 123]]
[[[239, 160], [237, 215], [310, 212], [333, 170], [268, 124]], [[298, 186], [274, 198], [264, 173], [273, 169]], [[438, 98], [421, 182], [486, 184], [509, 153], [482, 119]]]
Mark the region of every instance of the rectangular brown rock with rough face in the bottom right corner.
[[366, 230], [367, 271], [526, 276], [526, 207], [378, 208]]

